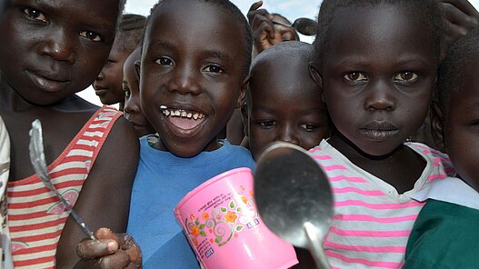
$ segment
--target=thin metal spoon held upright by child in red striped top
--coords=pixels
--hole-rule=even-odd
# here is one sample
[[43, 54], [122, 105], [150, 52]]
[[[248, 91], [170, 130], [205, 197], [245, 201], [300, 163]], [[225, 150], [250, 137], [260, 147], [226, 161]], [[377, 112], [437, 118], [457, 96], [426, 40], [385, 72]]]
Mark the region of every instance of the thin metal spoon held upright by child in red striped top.
[[30, 151], [30, 161], [32, 165], [34, 165], [35, 173], [38, 174], [40, 179], [44, 182], [44, 184], [52, 191], [60, 202], [65, 205], [66, 210], [74, 217], [77, 224], [82, 227], [83, 231], [85, 232], [88, 237], [92, 240], [96, 240], [95, 235], [93, 234], [92, 230], [88, 228], [85, 224], [84, 220], [78, 215], [72, 206], [65, 200], [65, 197], [56, 190], [54, 184], [50, 181], [50, 176], [46, 171], [46, 163], [45, 163], [45, 153], [44, 153], [44, 139], [42, 136], [42, 124], [40, 120], [36, 119], [32, 123], [32, 129], [30, 130], [30, 144], [28, 146]]

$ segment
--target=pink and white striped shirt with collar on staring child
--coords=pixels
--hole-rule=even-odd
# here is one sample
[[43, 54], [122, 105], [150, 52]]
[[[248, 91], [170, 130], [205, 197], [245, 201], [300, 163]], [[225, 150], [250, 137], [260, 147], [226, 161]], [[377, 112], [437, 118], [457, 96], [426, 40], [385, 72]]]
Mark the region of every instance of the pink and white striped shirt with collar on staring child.
[[399, 268], [407, 239], [424, 203], [411, 198], [431, 181], [454, 174], [446, 154], [407, 143], [427, 162], [414, 189], [398, 194], [383, 180], [352, 164], [325, 140], [309, 150], [334, 192], [334, 219], [324, 239], [333, 268]]

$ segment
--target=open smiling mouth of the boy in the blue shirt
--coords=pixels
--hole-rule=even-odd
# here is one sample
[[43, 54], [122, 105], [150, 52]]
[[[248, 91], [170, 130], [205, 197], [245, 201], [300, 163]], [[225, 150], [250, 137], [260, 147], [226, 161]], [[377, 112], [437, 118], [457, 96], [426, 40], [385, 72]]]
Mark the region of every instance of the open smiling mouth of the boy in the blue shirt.
[[193, 136], [199, 132], [206, 119], [205, 114], [194, 110], [170, 108], [165, 105], [160, 106], [160, 109], [168, 123], [175, 127], [171, 131], [183, 137]]

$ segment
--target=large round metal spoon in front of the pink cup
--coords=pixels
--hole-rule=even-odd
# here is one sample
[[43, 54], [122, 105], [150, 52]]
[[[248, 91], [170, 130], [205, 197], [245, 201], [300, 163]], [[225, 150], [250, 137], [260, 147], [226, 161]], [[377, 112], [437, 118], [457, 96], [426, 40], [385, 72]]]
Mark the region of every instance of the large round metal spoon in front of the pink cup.
[[318, 268], [331, 268], [323, 238], [334, 214], [323, 170], [307, 152], [278, 142], [258, 159], [254, 194], [264, 224], [285, 241], [309, 249]]

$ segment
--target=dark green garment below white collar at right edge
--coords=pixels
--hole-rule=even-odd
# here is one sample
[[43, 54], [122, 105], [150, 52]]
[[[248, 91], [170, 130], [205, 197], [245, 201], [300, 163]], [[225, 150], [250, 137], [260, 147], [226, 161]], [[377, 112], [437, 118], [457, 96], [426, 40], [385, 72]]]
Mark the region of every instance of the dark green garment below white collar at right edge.
[[478, 222], [477, 210], [428, 201], [409, 237], [403, 268], [476, 268]]

